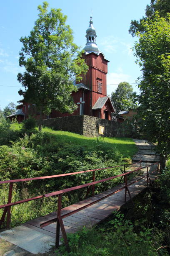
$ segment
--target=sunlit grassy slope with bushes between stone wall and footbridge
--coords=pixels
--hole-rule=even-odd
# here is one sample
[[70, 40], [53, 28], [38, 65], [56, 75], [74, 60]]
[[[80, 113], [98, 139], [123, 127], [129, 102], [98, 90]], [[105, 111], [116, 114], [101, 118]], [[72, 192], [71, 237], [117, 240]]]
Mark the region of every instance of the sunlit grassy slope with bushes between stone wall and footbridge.
[[[28, 135], [25, 135], [25, 132]], [[26, 120], [23, 125], [17, 123], [11, 125], [5, 120], [1, 120], [0, 145], [1, 180], [40, 177], [115, 166], [129, 163], [130, 157], [137, 151], [132, 139], [128, 138], [105, 138], [104, 141], [97, 142], [96, 138], [52, 131], [49, 128], [43, 128], [42, 132], [37, 132], [31, 119]], [[104, 179], [121, 172], [120, 167], [100, 171], [96, 173], [96, 179]], [[15, 185], [13, 201], [91, 181], [92, 174], [87, 173], [60, 179], [20, 182]], [[98, 184], [95, 187], [95, 193], [115, 186], [119, 182], [120, 178], [117, 178], [117, 180]], [[8, 184], [1, 186], [0, 204], [7, 202], [7, 192]], [[67, 193], [63, 196], [62, 206], [65, 207], [82, 200], [85, 195], [86, 189]], [[15, 226], [52, 212], [56, 210], [56, 204], [57, 197], [50, 197], [17, 205], [12, 209], [11, 224]]]

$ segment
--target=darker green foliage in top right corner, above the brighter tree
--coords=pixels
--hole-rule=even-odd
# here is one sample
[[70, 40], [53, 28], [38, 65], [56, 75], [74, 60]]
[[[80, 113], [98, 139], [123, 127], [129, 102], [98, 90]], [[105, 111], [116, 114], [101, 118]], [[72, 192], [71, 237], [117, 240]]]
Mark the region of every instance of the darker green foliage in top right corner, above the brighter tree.
[[150, 5], [146, 6], [145, 15], [146, 17], [140, 18], [140, 20], [131, 20], [129, 33], [135, 36], [135, 33], [139, 31], [140, 33], [145, 32], [145, 27], [143, 26], [143, 21], [147, 18], [150, 20], [154, 19], [155, 12], [158, 11], [160, 17], [166, 17], [167, 13], [170, 13], [170, 0], [151, 0]]

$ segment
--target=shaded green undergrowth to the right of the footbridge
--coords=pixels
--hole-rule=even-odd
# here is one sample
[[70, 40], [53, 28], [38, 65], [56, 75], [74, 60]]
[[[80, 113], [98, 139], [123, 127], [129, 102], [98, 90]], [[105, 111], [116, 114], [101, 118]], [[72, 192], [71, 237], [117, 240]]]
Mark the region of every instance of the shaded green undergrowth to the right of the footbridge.
[[56, 255], [163, 256], [170, 255], [170, 164], [152, 187], [97, 227], [69, 235]]

